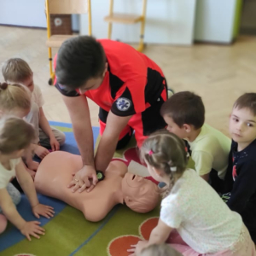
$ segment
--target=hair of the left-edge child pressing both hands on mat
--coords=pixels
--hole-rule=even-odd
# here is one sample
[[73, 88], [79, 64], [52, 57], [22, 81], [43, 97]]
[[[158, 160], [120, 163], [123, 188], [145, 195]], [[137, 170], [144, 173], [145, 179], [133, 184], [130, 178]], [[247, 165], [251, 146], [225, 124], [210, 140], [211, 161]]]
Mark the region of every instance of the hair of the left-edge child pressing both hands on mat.
[[11, 154], [28, 147], [35, 138], [32, 125], [16, 117], [0, 119], [0, 152]]

